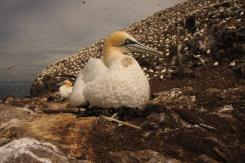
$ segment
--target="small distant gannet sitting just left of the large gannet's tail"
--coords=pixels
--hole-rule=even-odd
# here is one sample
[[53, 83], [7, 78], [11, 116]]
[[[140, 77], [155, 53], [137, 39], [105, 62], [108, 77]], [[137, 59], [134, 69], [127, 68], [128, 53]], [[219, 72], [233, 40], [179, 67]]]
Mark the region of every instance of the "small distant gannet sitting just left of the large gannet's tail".
[[63, 99], [69, 98], [72, 92], [72, 82], [69, 80], [65, 80], [60, 83], [59, 94]]

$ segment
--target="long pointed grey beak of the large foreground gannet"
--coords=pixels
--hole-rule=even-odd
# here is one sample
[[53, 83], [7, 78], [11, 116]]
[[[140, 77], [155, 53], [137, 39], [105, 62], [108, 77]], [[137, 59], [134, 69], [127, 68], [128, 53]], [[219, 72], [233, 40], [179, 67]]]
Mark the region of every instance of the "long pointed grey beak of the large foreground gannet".
[[133, 44], [128, 44], [125, 45], [128, 49], [130, 49], [131, 51], [135, 51], [135, 52], [143, 52], [143, 53], [148, 53], [148, 54], [158, 54], [158, 55], [162, 55], [163, 52], [152, 49], [150, 47], [147, 47], [139, 42], [135, 42]]

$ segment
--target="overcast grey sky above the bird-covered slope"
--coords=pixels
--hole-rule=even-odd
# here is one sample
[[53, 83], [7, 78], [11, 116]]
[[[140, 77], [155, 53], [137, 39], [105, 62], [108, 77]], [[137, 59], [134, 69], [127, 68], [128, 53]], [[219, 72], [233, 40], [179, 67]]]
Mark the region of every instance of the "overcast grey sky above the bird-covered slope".
[[49, 63], [182, 1], [0, 0], [0, 81], [33, 80]]

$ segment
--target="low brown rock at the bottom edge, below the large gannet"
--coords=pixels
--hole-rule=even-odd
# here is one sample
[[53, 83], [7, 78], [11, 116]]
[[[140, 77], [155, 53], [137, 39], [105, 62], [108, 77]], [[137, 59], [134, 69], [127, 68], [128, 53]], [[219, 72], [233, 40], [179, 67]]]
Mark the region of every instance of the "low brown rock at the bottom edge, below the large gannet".
[[161, 155], [160, 153], [152, 150], [144, 151], [120, 151], [112, 152], [111, 160], [118, 163], [134, 163], [134, 162], [148, 162], [148, 163], [180, 163], [180, 161]]

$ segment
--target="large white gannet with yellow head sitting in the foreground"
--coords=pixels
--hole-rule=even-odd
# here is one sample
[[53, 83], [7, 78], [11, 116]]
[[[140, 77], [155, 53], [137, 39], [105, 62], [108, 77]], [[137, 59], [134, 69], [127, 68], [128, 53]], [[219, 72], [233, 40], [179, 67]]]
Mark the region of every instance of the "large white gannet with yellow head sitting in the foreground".
[[123, 31], [106, 40], [102, 59], [90, 58], [75, 81], [71, 106], [90, 104], [101, 108], [140, 107], [150, 96], [147, 77], [138, 62], [126, 53], [162, 54], [139, 43]]

